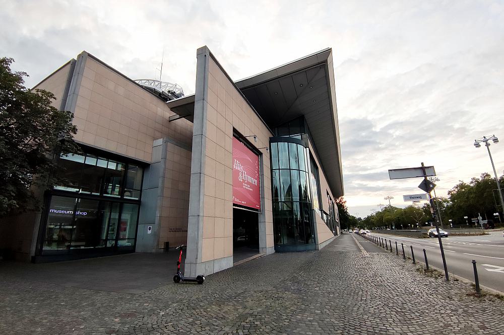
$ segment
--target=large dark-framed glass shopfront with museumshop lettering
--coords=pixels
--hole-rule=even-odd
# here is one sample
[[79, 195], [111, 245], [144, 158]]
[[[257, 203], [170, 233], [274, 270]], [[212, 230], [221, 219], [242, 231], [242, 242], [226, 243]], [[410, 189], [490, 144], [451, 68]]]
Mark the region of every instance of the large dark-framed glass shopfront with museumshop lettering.
[[134, 251], [142, 167], [88, 153], [59, 164], [64, 182], [48, 195], [39, 255]]

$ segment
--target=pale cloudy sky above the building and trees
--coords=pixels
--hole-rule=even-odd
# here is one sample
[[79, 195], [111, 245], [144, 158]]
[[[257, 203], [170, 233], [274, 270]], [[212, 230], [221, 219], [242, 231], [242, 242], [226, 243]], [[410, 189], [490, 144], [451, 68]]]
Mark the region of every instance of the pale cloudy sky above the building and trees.
[[131, 78], [159, 76], [194, 93], [207, 45], [237, 80], [333, 48], [345, 198], [366, 216], [403, 206], [420, 180], [388, 169], [434, 165], [446, 196], [491, 172], [475, 138], [495, 134], [504, 169], [503, 1], [7, 1], [0, 56], [32, 87], [82, 50]]

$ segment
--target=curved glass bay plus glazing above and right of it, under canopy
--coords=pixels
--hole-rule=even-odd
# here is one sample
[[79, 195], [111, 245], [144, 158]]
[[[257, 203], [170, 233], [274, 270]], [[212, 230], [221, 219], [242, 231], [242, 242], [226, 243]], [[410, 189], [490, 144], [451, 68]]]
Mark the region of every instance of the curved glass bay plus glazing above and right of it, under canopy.
[[286, 122], [273, 132], [270, 152], [275, 249], [313, 249], [316, 238], [312, 212], [337, 234], [336, 206], [328, 194], [329, 213], [323, 210], [319, 168], [307, 148], [310, 134], [305, 119], [299, 117]]

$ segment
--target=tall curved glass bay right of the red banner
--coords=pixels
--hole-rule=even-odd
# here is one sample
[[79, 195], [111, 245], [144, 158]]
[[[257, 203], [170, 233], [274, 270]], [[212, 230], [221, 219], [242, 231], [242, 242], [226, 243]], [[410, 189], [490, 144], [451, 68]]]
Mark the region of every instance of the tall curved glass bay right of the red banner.
[[314, 249], [308, 149], [296, 138], [278, 140], [270, 145], [275, 249]]

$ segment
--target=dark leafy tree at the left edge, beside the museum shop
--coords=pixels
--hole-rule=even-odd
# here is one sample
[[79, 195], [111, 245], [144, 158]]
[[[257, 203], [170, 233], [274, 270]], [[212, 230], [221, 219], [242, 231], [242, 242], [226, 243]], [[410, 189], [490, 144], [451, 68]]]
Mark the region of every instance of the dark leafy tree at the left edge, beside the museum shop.
[[51, 106], [52, 93], [26, 89], [13, 61], [0, 58], [0, 216], [37, 208], [34, 191], [59, 180], [54, 155], [80, 152], [72, 113]]

